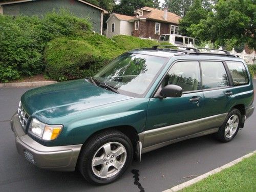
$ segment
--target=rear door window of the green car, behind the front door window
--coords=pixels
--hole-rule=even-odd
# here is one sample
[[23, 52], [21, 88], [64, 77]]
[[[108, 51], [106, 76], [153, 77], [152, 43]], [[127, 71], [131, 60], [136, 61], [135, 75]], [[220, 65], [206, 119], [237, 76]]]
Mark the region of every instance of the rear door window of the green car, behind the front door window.
[[215, 89], [229, 86], [223, 63], [220, 61], [201, 61], [203, 89]]

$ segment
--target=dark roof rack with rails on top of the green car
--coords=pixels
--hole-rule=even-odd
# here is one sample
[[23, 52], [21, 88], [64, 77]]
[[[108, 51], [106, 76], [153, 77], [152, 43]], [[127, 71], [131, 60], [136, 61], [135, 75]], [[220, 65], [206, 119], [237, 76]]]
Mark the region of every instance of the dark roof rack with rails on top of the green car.
[[[176, 54], [175, 55], [181, 55], [181, 54], [213, 54], [213, 55], [227, 55], [227, 56], [234, 56], [234, 57], [239, 57], [238, 55], [231, 55], [229, 51], [226, 50], [221, 50], [221, 49], [209, 49], [209, 48], [193, 48], [193, 47], [183, 47], [183, 46], [172, 46], [172, 45], [156, 45], [156, 46], [152, 46], [152, 49], [157, 50], [158, 47], [176, 47], [176, 48], [185, 48], [185, 50], [181, 50], [181, 49], [170, 49], [169, 51], [175, 51], [176, 50]], [[164, 49], [162, 49], [164, 50]], [[212, 50], [212, 51], [216, 51], [216, 52], [201, 52], [200, 50]], [[223, 52], [220, 53], [220, 52]]]

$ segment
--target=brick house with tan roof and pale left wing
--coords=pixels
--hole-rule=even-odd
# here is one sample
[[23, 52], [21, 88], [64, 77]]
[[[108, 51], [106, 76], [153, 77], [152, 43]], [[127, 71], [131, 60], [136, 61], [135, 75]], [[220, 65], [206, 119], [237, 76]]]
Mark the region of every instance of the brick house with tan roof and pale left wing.
[[158, 39], [161, 34], [179, 34], [180, 16], [151, 7], [135, 10], [134, 16], [113, 13], [106, 21], [107, 37], [126, 34], [140, 38]]

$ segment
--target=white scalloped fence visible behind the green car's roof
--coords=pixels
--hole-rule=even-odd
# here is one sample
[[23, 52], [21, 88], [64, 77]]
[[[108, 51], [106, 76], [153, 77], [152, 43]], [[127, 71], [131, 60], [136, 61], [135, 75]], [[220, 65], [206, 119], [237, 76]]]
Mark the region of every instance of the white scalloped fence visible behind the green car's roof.
[[[175, 46], [181, 46], [179, 44], [175, 44]], [[194, 47], [193, 44], [184, 46], [184, 47]], [[205, 49], [201, 48], [200, 50], [203, 52], [215, 52], [215, 53], [223, 53], [222, 51], [218, 50], [207, 50], [209, 48], [207, 45], [204, 47]], [[182, 49], [182, 48], [180, 48]], [[222, 50], [222, 47], [219, 48], [219, 50]], [[245, 50], [243, 50], [241, 53], [238, 53], [234, 50], [234, 48], [230, 51], [231, 54], [238, 55], [240, 58], [244, 59], [247, 64], [256, 64], [256, 54], [255, 51], [253, 51], [251, 54], [247, 54]]]

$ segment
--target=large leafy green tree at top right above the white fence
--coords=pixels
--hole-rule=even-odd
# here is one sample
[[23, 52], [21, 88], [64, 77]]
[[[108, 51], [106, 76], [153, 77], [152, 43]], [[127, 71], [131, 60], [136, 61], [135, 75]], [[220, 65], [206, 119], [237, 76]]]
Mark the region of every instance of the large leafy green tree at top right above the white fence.
[[246, 43], [256, 49], [256, 5], [251, 0], [219, 0], [206, 19], [190, 26], [191, 34], [227, 47]]

